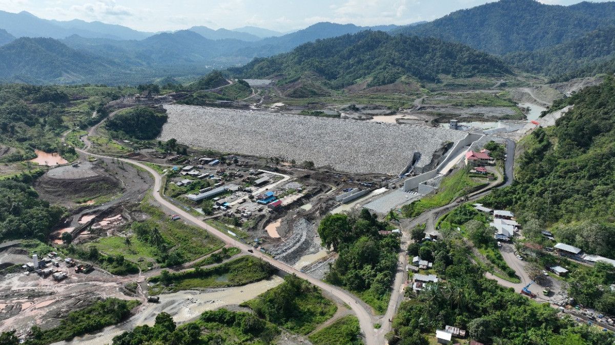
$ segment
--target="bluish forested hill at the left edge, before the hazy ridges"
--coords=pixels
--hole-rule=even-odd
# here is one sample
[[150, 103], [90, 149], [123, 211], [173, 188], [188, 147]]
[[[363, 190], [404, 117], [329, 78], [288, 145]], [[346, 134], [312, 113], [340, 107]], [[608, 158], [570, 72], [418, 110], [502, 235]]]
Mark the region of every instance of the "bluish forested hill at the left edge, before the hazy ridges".
[[22, 37], [0, 47], [0, 80], [70, 83], [119, 71], [111, 61], [78, 52], [55, 39]]

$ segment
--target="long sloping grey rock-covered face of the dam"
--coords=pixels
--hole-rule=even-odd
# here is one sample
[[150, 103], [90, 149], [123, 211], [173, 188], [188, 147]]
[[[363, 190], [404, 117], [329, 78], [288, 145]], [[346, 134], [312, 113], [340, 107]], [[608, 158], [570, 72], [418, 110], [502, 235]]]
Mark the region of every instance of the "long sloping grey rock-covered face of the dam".
[[314, 161], [339, 171], [399, 174], [421, 153], [427, 165], [446, 141], [461, 131], [339, 118], [271, 114], [249, 110], [167, 105], [161, 140], [258, 157]]

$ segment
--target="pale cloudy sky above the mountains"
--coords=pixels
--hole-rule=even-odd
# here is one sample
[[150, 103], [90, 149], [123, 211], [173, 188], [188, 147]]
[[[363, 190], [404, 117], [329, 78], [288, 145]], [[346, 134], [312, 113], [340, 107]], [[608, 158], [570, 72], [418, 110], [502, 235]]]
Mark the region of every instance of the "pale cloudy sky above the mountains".
[[[581, 0], [539, 1], [569, 5]], [[285, 32], [319, 21], [406, 25], [486, 2], [493, 0], [0, 0], [0, 10], [25, 10], [55, 20], [98, 20], [151, 32], [197, 25], [212, 29], [250, 25]]]

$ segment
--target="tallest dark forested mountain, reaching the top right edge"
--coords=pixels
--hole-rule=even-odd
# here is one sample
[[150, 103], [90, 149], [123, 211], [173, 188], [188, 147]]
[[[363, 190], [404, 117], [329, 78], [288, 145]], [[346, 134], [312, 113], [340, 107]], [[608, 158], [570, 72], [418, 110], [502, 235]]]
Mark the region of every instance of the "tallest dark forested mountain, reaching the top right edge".
[[581, 2], [566, 7], [534, 0], [501, 0], [392, 33], [438, 37], [505, 54], [550, 47], [608, 25], [615, 25], [615, 2]]

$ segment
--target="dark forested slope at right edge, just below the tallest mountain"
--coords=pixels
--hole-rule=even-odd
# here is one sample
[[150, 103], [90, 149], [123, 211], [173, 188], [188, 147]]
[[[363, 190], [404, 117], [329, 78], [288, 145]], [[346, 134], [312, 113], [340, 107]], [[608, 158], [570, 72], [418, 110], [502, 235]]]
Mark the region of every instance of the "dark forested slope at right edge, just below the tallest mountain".
[[554, 47], [510, 53], [504, 58], [510, 64], [534, 73], [552, 77], [569, 74], [615, 58], [615, 26], [591, 31]]

